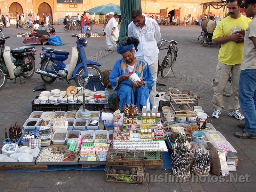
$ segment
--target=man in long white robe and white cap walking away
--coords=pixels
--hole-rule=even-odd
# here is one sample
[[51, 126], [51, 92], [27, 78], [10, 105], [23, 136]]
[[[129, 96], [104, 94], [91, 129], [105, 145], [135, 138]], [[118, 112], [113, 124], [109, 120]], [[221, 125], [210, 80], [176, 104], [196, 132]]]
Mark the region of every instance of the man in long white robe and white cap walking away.
[[106, 37], [108, 49], [106, 51], [112, 51], [112, 46], [116, 47], [116, 41], [118, 40], [119, 30], [116, 25], [116, 19], [114, 18], [114, 13], [109, 12], [109, 18], [107, 27], [106, 27]]

